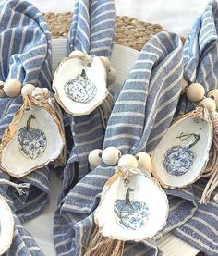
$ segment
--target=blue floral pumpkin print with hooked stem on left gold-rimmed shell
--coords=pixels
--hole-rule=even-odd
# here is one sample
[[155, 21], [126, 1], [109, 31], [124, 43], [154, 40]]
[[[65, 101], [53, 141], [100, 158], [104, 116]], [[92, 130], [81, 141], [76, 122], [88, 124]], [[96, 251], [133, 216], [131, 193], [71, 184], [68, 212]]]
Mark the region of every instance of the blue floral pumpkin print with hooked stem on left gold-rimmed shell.
[[30, 128], [30, 122], [35, 116], [30, 115], [27, 126], [18, 131], [18, 149], [28, 159], [34, 160], [42, 155], [47, 146], [47, 138], [39, 128]]

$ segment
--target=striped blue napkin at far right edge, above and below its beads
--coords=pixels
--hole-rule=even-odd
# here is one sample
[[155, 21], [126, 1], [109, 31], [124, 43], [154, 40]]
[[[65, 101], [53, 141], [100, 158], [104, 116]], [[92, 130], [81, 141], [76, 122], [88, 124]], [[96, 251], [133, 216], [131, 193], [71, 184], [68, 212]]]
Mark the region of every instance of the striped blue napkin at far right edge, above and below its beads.
[[[197, 18], [184, 45], [184, 78], [190, 83], [200, 83], [204, 87], [206, 95], [208, 91], [218, 88], [217, 20], [217, 2], [211, 1], [200, 18]], [[178, 104], [180, 114], [187, 113], [193, 108], [194, 105], [185, 96], [180, 99], [180, 104]], [[201, 178], [191, 186], [190, 195], [197, 202], [200, 201], [207, 182], [207, 178]], [[174, 190], [168, 192], [172, 193], [172, 191]], [[218, 204], [215, 200], [217, 193], [218, 189], [212, 192], [211, 201], [207, 205], [199, 202], [194, 216], [186, 224], [173, 230], [177, 237], [187, 241], [207, 255], [218, 254]], [[184, 207], [181, 211], [186, 211], [186, 208]]]

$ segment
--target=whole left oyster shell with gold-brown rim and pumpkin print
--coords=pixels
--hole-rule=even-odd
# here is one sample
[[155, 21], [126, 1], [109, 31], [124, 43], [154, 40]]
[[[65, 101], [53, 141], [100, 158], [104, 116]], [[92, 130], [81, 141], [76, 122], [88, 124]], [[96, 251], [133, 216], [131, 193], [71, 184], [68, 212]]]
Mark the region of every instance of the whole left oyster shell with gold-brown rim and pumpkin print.
[[50, 162], [65, 164], [63, 123], [50, 92], [35, 88], [24, 95], [24, 103], [3, 134], [0, 164], [10, 176], [23, 177]]

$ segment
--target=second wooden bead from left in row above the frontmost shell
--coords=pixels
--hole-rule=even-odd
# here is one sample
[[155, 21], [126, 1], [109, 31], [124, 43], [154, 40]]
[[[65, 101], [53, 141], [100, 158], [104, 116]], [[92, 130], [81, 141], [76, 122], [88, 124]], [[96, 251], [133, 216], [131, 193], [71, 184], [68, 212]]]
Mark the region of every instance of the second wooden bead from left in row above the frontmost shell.
[[121, 152], [115, 147], [108, 147], [102, 153], [103, 163], [106, 165], [117, 165], [120, 157]]

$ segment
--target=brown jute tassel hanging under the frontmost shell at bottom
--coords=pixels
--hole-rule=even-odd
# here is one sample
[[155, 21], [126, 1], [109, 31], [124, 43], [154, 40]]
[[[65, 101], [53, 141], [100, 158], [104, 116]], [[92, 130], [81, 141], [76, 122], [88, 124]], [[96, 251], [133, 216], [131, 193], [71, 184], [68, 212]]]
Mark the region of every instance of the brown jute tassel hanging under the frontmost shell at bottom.
[[124, 243], [124, 241], [103, 237], [96, 226], [84, 256], [122, 256]]

